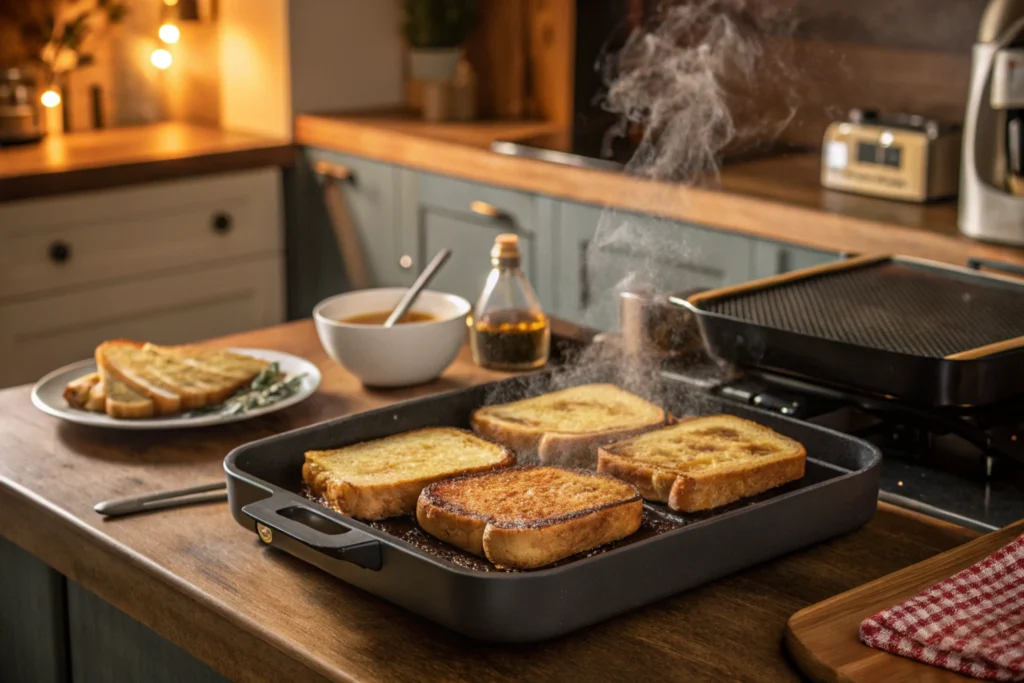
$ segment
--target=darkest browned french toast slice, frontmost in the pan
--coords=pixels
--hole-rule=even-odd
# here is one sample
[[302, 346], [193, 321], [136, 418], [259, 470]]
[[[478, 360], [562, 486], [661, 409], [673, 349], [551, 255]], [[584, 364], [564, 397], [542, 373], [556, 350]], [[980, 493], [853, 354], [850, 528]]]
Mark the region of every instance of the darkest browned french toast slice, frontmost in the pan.
[[432, 483], [425, 531], [499, 567], [536, 569], [630, 536], [643, 519], [632, 484], [560, 467], [512, 467]]

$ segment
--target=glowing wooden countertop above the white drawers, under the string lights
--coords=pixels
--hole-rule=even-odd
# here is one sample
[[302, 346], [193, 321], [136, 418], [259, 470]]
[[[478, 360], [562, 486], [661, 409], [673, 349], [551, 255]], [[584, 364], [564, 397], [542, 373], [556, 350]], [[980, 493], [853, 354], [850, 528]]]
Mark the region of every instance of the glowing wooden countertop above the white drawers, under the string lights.
[[0, 202], [259, 166], [288, 166], [290, 140], [180, 122], [47, 136], [0, 148]]

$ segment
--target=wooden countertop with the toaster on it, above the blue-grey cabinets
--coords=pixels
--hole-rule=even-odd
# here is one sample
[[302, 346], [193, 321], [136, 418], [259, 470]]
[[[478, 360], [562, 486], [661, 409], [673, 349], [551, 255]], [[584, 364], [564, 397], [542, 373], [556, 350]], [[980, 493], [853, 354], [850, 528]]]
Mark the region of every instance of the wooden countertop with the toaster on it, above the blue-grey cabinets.
[[429, 124], [399, 115], [305, 115], [295, 122], [303, 145], [767, 240], [961, 265], [969, 257], [1024, 265], [1024, 249], [961, 236], [953, 202], [921, 206], [823, 189], [817, 155], [728, 165], [720, 188], [706, 189], [489, 151], [495, 139], [557, 131], [545, 123]]

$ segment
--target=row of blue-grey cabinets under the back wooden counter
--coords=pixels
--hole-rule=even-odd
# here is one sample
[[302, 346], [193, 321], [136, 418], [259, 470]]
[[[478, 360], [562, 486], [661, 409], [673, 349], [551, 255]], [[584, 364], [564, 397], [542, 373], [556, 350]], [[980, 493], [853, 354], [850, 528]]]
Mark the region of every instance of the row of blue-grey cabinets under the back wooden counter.
[[[409, 286], [440, 249], [452, 258], [431, 288], [474, 302], [502, 232], [519, 236], [523, 268], [542, 305], [599, 329], [617, 324], [616, 288], [653, 283], [664, 291], [716, 288], [825, 263], [838, 254], [757, 240], [674, 220], [496, 187], [336, 153], [308, 150], [296, 169], [301, 194], [289, 239], [290, 311], [305, 316], [347, 283], [313, 170], [351, 172], [342, 184], [374, 286]], [[588, 251], [598, 225], [607, 244]]]

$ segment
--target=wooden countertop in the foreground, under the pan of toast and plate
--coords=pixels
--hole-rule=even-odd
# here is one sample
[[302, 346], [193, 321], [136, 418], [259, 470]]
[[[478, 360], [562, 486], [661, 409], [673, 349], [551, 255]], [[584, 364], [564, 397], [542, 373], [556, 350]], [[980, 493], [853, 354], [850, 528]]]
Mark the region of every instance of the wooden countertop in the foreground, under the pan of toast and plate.
[[226, 504], [104, 521], [104, 499], [223, 477], [243, 442], [499, 377], [463, 353], [442, 379], [368, 391], [330, 361], [308, 321], [219, 340], [297, 353], [321, 390], [287, 411], [209, 429], [115, 432], [61, 423], [0, 391], [0, 535], [242, 681], [799, 681], [791, 614], [962, 544], [974, 531], [880, 505], [863, 528], [554, 641], [457, 636], [261, 547]]

